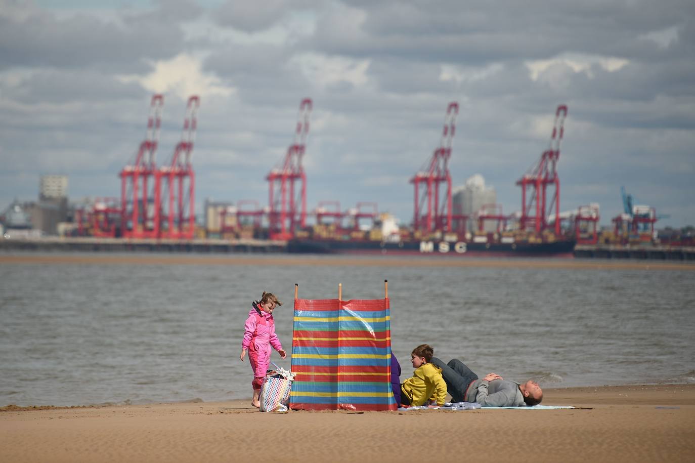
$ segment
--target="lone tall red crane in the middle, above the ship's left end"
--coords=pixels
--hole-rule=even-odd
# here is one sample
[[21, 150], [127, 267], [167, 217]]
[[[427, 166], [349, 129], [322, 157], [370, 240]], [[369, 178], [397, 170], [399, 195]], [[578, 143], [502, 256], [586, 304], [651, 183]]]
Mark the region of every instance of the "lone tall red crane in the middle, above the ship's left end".
[[[302, 99], [297, 115], [295, 139], [287, 149], [281, 164], [265, 177], [269, 184], [268, 232], [273, 240], [289, 239], [297, 228], [306, 226], [306, 174], [302, 166], [302, 156], [306, 149], [312, 106], [310, 98]], [[295, 181], [301, 183], [299, 197], [295, 197]]]

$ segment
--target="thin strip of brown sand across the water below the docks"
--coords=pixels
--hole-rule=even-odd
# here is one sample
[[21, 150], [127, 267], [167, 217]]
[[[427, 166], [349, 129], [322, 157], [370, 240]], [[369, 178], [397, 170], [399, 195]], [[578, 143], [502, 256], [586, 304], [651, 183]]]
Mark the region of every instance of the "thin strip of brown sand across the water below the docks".
[[472, 257], [331, 257], [307, 254], [0, 254], [2, 264], [120, 264], [120, 265], [203, 265], [203, 266], [369, 266], [369, 267], [477, 267], [477, 268], [575, 268], [630, 270], [695, 270], [695, 263], [669, 261], [607, 261], [594, 259], [476, 259]]

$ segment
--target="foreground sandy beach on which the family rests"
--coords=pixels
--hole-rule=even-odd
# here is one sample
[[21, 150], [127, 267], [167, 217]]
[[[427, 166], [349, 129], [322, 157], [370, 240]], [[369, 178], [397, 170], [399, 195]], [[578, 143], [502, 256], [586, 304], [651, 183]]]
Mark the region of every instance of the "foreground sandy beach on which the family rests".
[[0, 412], [3, 462], [689, 462], [695, 384], [546, 389], [575, 409], [261, 413], [249, 400]]

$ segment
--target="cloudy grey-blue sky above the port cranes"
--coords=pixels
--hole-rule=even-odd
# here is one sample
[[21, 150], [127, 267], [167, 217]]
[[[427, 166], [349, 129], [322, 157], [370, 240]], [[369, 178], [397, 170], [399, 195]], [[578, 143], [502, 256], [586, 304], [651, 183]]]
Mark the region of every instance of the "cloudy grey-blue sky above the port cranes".
[[41, 174], [69, 175], [73, 200], [120, 195], [162, 92], [160, 164], [201, 97], [198, 213], [267, 204], [311, 97], [309, 209], [409, 222], [408, 179], [457, 101], [455, 186], [482, 174], [516, 211], [566, 104], [562, 210], [596, 202], [609, 224], [625, 186], [661, 226], [695, 225], [694, 58], [692, 0], [0, 0], [0, 210]]

